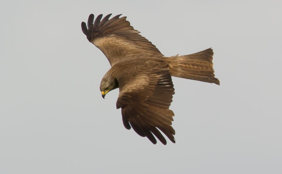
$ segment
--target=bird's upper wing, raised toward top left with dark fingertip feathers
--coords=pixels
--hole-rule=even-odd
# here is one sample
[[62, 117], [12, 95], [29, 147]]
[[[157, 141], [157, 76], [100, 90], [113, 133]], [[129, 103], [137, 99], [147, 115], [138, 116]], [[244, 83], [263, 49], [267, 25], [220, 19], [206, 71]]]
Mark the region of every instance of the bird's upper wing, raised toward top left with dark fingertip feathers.
[[108, 14], [102, 19], [100, 14], [94, 21], [94, 15], [90, 14], [88, 29], [85, 22], [81, 23], [82, 31], [88, 41], [105, 54], [111, 66], [130, 54], [147, 53], [163, 56], [152, 42], [139, 35], [140, 32], [130, 26], [126, 17], [119, 18], [120, 15], [109, 19], [111, 14]]

